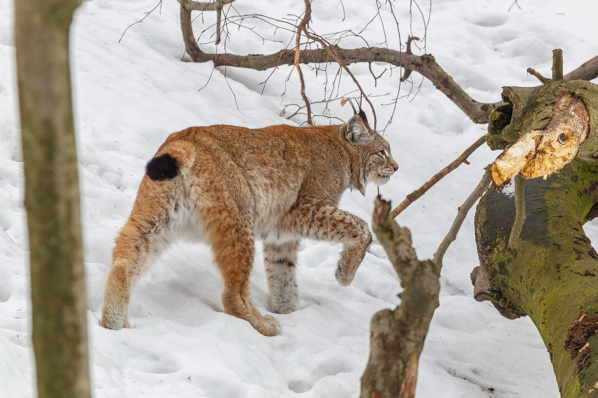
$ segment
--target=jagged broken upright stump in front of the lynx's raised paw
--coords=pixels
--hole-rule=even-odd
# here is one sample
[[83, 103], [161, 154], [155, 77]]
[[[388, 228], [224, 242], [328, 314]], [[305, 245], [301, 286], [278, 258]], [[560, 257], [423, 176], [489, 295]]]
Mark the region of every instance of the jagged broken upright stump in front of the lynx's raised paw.
[[390, 202], [376, 200], [374, 232], [404, 291], [395, 310], [374, 314], [370, 360], [361, 378], [361, 398], [413, 398], [417, 366], [432, 315], [438, 307], [440, 274], [432, 261], [419, 261], [409, 230], [388, 217]]

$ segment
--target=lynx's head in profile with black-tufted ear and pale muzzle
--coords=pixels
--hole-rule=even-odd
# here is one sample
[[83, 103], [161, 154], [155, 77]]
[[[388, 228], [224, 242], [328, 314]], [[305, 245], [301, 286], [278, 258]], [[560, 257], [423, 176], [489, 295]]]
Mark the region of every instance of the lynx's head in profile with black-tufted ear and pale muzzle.
[[377, 185], [388, 183], [399, 165], [392, 159], [386, 140], [370, 128], [363, 110], [360, 109], [359, 113], [347, 122], [345, 138], [358, 155], [359, 164], [353, 165], [353, 187], [363, 194], [365, 184], [370, 181]]

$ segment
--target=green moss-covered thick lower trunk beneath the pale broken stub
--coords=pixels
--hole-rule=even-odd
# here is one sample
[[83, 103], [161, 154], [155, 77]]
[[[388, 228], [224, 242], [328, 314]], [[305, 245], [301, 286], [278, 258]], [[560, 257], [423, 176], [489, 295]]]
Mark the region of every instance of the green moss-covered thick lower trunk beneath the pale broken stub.
[[582, 361], [579, 373], [579, 359], [565, 348], [580, 311], [588, 317], [598, 314], [598, 261], [581, 227], [596, 202], [588, 195], [596, 183], [598, 174], [579, 174], [570, 166], [547, 181], [526, 181], [527, 219], [516, 249], [507, 248], [512, 198], [490, 190], [475, 220], [480, 267], [504, 298], [499, 305], [521, 308], [535, 323], [551, 351], [563, 397], [590, 397], [598, 381], [596, 338], [588, 340], [595, 358]]

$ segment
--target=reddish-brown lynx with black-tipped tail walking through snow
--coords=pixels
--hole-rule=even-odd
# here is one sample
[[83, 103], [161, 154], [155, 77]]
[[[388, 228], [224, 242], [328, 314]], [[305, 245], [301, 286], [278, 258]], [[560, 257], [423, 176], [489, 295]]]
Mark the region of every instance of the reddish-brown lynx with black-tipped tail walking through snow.
[[130, 292], [176, 237], [207, 242], [224, 279], [227, 314], [266, 336], [280, 323], [249, 296], [254, 239], [263, 241], [269, 309], [298, 309], [301, 239], [343, 243], [335, 276], [349, 285], [371, 243], [368, 224], [337, 208], [346, 189], [364, 193], [398, 169], [389, 145], [360, 111], [341, 125], [249, 129], [191, 127], [171, 134], [146, 166], [133, 210], [116, 239], [101, 324], [129, 327]]

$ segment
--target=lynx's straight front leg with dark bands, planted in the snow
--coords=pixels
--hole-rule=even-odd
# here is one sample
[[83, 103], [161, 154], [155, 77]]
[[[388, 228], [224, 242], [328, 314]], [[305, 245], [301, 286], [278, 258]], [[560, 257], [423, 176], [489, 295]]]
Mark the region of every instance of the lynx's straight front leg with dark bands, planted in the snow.
[[295, 264], [298, 241], [264, 242], [264, 264], [270, 288], [270, 311], [289, 314], [299, 309]]

